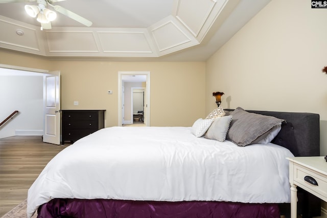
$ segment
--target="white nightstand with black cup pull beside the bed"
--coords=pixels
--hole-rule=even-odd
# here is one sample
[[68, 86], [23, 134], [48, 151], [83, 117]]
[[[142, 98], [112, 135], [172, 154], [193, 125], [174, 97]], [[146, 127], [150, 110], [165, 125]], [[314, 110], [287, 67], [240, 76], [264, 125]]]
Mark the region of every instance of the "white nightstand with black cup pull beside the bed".
[[297, 186], [327, 202], [327, 162], [324, 157], [293, 157], [290, 161], [291, 218], [297, 216]]

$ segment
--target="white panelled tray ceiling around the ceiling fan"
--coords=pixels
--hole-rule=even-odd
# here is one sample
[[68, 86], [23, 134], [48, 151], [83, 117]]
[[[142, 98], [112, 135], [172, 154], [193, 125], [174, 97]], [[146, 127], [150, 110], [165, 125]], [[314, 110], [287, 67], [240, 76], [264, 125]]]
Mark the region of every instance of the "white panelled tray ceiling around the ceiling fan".
[[54, 5], [87, 18], [92, 26], [58, 13], [50, 30], [40, 30], [36, 18], [25, 12], [26, 4], [36, 2], [3, 3], [0, 47], [56, 58], [203, 61], [269, 1], [66, 0]]

